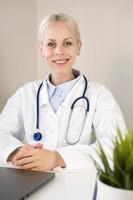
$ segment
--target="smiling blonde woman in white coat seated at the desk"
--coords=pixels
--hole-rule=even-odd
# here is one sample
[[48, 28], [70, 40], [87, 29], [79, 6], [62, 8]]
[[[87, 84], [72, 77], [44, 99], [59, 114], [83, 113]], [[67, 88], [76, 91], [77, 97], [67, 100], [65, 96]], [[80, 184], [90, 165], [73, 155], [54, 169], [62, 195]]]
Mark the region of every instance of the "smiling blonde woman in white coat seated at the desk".
[[0, 116], [0, 160], [38, 171], [89, 169], [95, 156], [93, 131], [106, 151], [116, 127], [125, 132], [120, 108], [105, 86], [73, 68], [81, 49], [74, 19], [47, 17], [39, 39], [50, 73], [8, 100]]

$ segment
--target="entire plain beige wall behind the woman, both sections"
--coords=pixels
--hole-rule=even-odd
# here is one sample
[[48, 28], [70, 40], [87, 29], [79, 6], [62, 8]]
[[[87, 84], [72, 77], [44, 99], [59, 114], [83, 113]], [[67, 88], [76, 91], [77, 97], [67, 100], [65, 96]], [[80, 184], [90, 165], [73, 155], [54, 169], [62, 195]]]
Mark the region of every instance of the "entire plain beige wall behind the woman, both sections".
[[133, 127], [132, 0], [0, 0], [0, 112], [20, 86], [48, 72], [38, 28], [45, 16], [59, 12], [79, 24], [82, 51], [75, 67], [113, 92]]

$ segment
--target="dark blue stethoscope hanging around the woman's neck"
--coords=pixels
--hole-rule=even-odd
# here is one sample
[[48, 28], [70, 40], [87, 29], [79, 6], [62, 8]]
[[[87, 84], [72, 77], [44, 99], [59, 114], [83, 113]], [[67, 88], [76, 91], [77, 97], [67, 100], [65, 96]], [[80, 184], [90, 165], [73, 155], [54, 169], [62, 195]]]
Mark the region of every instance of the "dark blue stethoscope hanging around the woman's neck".
[[[76, 144], [76, 143], [79, 142], [79, 140], [81, 138], [81, 135], [82, 135], [82, 130], [83, 130], [83, 127], [84, 127], [84, 124], [85, 124], [86, 115], [87, 115], [87, 112], [89, 112], [89, 100], [85, 96], [86, 91], [87, 91], [88, 82], [87, 82], [87, 79], [86, 79], [86, 77], [84, 75], [83, 75], [83, 78], [84, 78], [84, 81], [85, 81], [85, 86], [84, 86], [83, 94], [82, 94], [82, 96], [76, 98], [74, 100], [74, 102], [72, 103], [72, 105], [71, 105], [71, 111], [70, 111], [70, 115], [69, 115], [69, 120], [68, 120], [68, 124], [67, 124], [67, 128], [66, 128], [65, 140], [66, 140], [66, 143], [69, 144], [69, 145], [74, 145], [74, 144]], [[40, 141], [42, 139], [42, 133], [39, 131], [39, 120], [40, 120], [39, 119], [39, 117], [40, 117], [40, 113], [39, 113], [39, 95], [40, 95], [40, 90], [42, 88], [42, 85], [43, 85], [43, 82], [40, 84], [40, 86], [38, 88], [38, 91], [37, 91], [37, 96], [36, 96], [36, 132], [33, 134], [33, 139], [35, 141]], [[79, 100], [85, 100], [85, 102], [86, 102], [85, 116], [84, 116], [84, 120], [83, 120], [83, 123], [82, 123], [81, 131], [80, 131], [78, 139], [76, 141], [74, 141], [74, 142], [71, 142], [68, 139], [69, 125], [70, 125], [70, 121], [71, 121], [71, 116], [72, 116], [72, 113], [73, 113], [73, 109], [74, 109], [75, 105], [77, 104], [77, 102]]]

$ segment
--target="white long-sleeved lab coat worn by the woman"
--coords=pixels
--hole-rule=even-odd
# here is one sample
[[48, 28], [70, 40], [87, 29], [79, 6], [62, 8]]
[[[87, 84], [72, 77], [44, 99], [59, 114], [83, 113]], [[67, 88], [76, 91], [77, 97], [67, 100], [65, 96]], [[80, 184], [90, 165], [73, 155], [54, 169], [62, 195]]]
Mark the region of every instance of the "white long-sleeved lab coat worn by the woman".
[[[36, 93], [41, 81], [26, 84], [8, 100], [0, 114], [0, 161], [6, 162], [10, 153], [24, 143], [35, 144], [33, 133], [36, 130]], [[54, 113], [48, 98], [46, 78], [40, 92], [40, 131], [43, 133], [41, 143], [44, 148], [56, 149], [64, 161], [64, 170], [85, 170], [92, 166], [90, 156], [96, 157], [95, 142], [92, 135], [94, 127], [96, 137], [105, 146], [106, 152], [110, 149], [112, 135], [116, 134], [116, 127], [123, 133], [126, 126], [118, 104], [111, 92], [105, 86], [88, 82], [86, 97], [89, 99], [90, 110], [87, 113], [84, 128], [79, 142], [76, 145], [66, 143], [66, 127], [73, 101], [83, 94], [83, 76], [73, 86], [65, 101]], [[70, 124], [68, 138], [79, 135], [79, 124], [82, 121], [85, 101], [77, 103], [73, 113], [73, 122]], [[73, 137], [74, 136], [74, 137]]]

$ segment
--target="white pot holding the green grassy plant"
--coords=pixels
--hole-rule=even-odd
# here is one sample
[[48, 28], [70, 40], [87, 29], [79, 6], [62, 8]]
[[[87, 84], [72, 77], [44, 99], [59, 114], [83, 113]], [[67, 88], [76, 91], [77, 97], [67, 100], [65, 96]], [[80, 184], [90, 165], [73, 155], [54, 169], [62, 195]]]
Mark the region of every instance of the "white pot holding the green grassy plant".
[[133, 200], [133, 190], [124, 190], [97, 181], [97, 200]]

